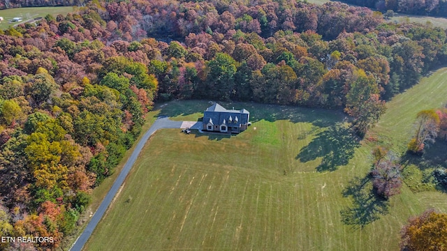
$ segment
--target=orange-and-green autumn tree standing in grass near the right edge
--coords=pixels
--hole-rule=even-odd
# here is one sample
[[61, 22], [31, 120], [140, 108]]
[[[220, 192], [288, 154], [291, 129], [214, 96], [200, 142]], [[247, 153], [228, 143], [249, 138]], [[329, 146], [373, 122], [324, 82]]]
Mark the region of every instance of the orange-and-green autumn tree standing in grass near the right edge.
[[411, 153], [423, 153], [425, 144], [433, 143], [439, 130], [439, 115], [434, 109], [423, 110], [416, 116], [416, 132], [408, 144]]

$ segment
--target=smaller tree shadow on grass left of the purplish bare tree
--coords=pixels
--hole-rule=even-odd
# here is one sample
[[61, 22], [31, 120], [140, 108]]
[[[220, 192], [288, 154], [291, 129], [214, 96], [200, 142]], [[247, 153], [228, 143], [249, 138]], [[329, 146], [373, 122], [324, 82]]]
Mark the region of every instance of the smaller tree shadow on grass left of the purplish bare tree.
[[351, 225], [354, 229], [363, 228], [388, 213], [389, 201], [377, 196], [370, 183], [369, 176], [356, 177], [343, 190], [343, 197], [353, 200], [352, 206], [340, 211], [345, 225]]

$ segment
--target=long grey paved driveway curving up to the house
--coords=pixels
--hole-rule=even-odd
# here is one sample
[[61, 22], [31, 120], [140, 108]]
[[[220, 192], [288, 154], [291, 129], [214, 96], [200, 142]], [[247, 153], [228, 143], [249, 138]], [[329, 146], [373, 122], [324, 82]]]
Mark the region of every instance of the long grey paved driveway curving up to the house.
[[151, 137], [151, 135], [153, 135], [156, 130], [159, 130], [161, 128], [184, 128], [184, 125], [191, 125], [191, 124], [194, 124], [195, 127], [198, 126], [197, 122], [170, 121], [167, 117], [159, 117], [158, 119], [156, 119], [151, 128], [147, 130], [145, 135], [143, 135], [143, 137], [138, 142], [137, 146], [132, 152], [131, 157], [127, 160], [126, 164], [121, 170], [121, 173], [119, 173], [119, 176], [115, 180], [115, 183], [113, 183], [112, 188], [110, 188], [107, 195], [105, 195], [103, 201], [101, 202], [101, 205], [99, 205], [98, 207], [98, 210], [96, 210], [93, 217], [90, 219], [89, 225], [87, 225], [84, 231], [82, 231], [82, 234], [75, 241], [70, 250], [80, 251], [82, 250], [82, 247], [85, 245], [85, 243], [87, 243], [87, 240], [90, 238], [91, 233], [95, 229], [96, 225], [98, 225], [98, 222], [101, 220], [101, 218], [103, 218], [103, 215], [107, 210], [107, 208], [109, 207], [110, 203], [112, 202], [112, 199], [115, 197], [119, 188], [122, 186], [127, 174], [129, 174], [129, 171], [131, 171], [133, 163], [138, 158], [138, 155], [140, 154], [143, 146], [145, 146], [147, 139], [149, 139], [149, 137]]

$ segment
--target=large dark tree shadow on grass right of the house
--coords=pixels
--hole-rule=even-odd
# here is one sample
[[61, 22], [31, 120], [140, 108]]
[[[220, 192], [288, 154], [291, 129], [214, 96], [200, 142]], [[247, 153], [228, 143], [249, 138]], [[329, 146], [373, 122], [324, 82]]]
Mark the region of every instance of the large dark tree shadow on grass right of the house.
[[359, 139], [353, 130], [342, 123], [336, 123], [327, 130], [318, 132], [314, 140], [303, 147], [295, 159], [308, 162], [323, 157], [316, 171], [335, 171], [339, 166], [348, 164], [359, 146]]

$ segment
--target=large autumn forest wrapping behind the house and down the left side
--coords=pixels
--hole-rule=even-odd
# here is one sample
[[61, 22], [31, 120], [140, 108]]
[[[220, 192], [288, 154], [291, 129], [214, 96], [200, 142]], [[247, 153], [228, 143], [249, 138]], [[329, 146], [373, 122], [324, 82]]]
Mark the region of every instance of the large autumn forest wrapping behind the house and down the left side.
[[339, 2], [85, 5], [0, 31], [0, 232], [54, 237], [22, 248], [71, 234], [154, 101], [343, 109], [362, 136], [447, 61], [445, 30]]

